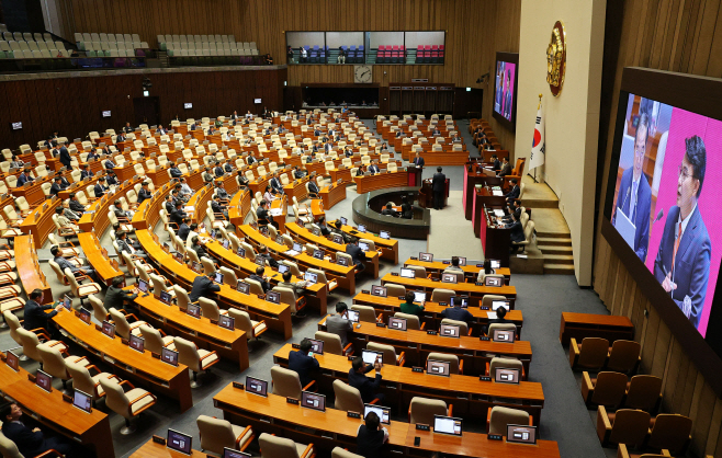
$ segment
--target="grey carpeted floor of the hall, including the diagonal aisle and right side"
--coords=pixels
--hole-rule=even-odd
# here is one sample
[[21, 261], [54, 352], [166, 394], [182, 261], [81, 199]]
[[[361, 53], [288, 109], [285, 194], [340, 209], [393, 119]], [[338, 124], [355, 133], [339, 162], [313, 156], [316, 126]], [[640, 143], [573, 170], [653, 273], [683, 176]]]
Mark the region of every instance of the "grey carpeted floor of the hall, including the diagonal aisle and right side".
[[[368, 122], [372, 125], [371, 122]], [[465, 141], [471, 146], [471, 138], [465, 130], [465, 122], [461, 122], [461, 131]], [[471, 147], [471, 149], [474, 149]], [[460, 192], [463, 183], [463, 169], [444, 168], [444, 173], [451, 179], [451, 188]], [[425, 172], [425, 178], [430, 176], [432, 171]], [[351, 214], [351, 202], [357, 196], [354, 187], [349, 187], [346, 201], [341, 202], [327, 211], [329, 219], [338, 216], [349, 216]], [[452, 208], [461, 207], [461, 195], [453, 193], [450, 199]], [[439, 217], [453, 219], [455, 226], [461, 230], [469, 231], [471, 222], [466, 220], [456, 221], [458, 217], [452, 211], [435, 211], [433, 219]], [[451, 231], [452, 229], [450, 229]], [[465, 236], [456, 236], [456, 232], [450, 236], [454, 239], [462, 239]], [[165, 239], [165, 234], [160, 234]], [[450, 238], [451, 238], [450, 237]], [[108, 234], [101, 239], [101, 243], [113, 252], [111, 241]], [[41, 260], [49, 257], [49, 247], [38, 251]], [[407, 260], [409, 256], [417, 255], [420, 251], [427, 250], [426, 241], [401, 240], [399, 261]], [[438, 249], [444, 252], [442, 248]], [[453, 251], [455, 253], [455, 251]], [[54, 295], [57, 297], [68, 290], [66, 286], [60, 285], [47, 263], [42, 263]], [[380, 275], [390, 271], [397, 271], [399, 266], [393, 266], [387, 261], [382, 261]], [[359, 284], [361, 288], [368, 289], [371, 284], [377, 284], [369, 277], [363, 277]], [[606, 313], [606, 308], [599, 301], [599, 298], [589, 289], [580, 289], [572, 275], [512, 275], [511, 284], [517, 287], [518, 300], [517, 306], [523, 312], [524, 324], [522, 339], [530, 341], [533, 350], [533, 358], [530, 367], [530, 380], [540, 381], [543, 385], [545, 403], [542, 410], [540, 436], [543, 439], [559, 442], [562, 457], [585, 457], [601, 458], [605, 456], [613, 457], [616, 450], [602, 448], [595, 434], [594, 412], [588, 412], [582, 402], [579, 394], [578, 381], [569, 369], [566, 350], [562, 348], [559, 342], [559, 327], [562, 311], [577, 311], [588, 313]], [[345, 294], [334, 294], [329, 298], [329, 311], [338, 300], [352, 304], [352, 298]], [[303, 337], [313, 336], [316, 331], [318, 316], [308, 316], [305, 319], [294, 322], [293, 339], [291, 342], [300, 342]], [[131, 436], [122, 436], [119, 431], [123, 425], [123, 420], [110, 413], [111, 430], [113, 431], [113, 444], [116, 456], [129, 456], [133, 450], [147, 442], [153, 434], [166, 435], [168, 427], [185, 432], [193, 435], [194, 448], [198, 448], [199, 435], [195, 419], [201, 414], [219, 416], [222, 413], [213, 407], [213, 396], [232, 380], [242, 381], [247, 375], [270, 379], [270, 368], [272, 366], [272, 354], [284, 342], [278, 335], [266, 333], [260, 341], [250, 343], [250, 368], [245, 373], [238, 373], [237, 365], [229, 362], [222, 362], [214, 366], [208, 376], [201, 376], [200, 380], [203, 386], [193, 390], [194, 405], [188, 412], [180, 414], [174, 402], [159, 398], [159, 401], [149, 411], [146, 411], [138, 423], [138, 431]], [[0, 348], [14, 347], [15, 343], [11, 340], [9, 332], [0, 332]], [[84, 352], [78, 346], [71, 346], [70, 353], [81, 355]], [[97, 364], [99, 362], [95, 362]], [[32, 360], [22, 363], [22, 366], [35, 371], [37, 364]], [[57, 382], [59, 387], [59, 381]], [[100, 405], [100, 409], [105, 410]], [[105, 410], [106, 411], [106, 410]], [[407, 421], [404, 412], [395, 412], [394, 420]], [[466, 425], [466, 423], [465, 423]], [[470, 422], [470, 430], [483, 432], [480, 425]], [[256, 448], [257, 451], [257, 448]]]

